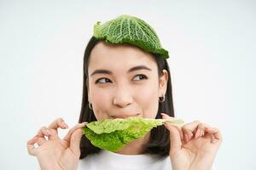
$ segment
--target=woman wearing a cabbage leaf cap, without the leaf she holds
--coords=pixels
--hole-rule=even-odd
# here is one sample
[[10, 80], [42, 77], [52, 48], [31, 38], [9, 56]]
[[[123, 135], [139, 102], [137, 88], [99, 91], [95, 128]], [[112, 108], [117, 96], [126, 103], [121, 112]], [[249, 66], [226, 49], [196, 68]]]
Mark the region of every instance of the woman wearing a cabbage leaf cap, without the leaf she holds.
[[64, 139], [57, 133], [67, 128], [61, 118], [41, 127], [27, 142], [29, 154], [37, 156], [41, 169], [211, 169], [222, 138], [202, 122], [166, 123], [116, 153], [96, 148], [82, 135], [81, 127], [96, 120], [173, 117], [166, 58], [168, 52], [143, 20], [122, 15], [97, 23], [84, 53], [79, 124]]

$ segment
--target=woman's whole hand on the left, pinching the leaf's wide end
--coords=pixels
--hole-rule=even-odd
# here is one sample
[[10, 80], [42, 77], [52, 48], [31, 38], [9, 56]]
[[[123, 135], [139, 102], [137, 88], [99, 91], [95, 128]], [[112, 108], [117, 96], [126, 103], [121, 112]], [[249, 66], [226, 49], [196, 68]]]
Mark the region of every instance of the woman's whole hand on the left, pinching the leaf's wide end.
[[[58, 118], [48, 127], [41, 127], [38, 134], [27, 141], [27, 151], [32, 156], [37, 156], [42, 170], [75, 170], [78, 167], [80, 149], [79, 143], [83, 135], [79, 123], [69, 130], [64, 139], [58, 136], [58, 128], [67, 128], [67, 124]], [[48, 137], [48, 138], [45, 138]], [[35, 148], [34, 144], [38, 144]]]

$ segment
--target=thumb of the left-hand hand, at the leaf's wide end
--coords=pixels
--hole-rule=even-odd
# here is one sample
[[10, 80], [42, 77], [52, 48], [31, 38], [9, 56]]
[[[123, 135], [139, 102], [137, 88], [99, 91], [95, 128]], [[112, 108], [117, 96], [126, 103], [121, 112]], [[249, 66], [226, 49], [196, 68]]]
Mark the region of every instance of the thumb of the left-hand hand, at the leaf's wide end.
[[80, 141], [81, 141], [82, 135], [83, 135], [82, 129], [79, 128], [75, 130], [71, 136], [70, 149], [73, 150], [73, 153], [76, 156], [80, 155]]

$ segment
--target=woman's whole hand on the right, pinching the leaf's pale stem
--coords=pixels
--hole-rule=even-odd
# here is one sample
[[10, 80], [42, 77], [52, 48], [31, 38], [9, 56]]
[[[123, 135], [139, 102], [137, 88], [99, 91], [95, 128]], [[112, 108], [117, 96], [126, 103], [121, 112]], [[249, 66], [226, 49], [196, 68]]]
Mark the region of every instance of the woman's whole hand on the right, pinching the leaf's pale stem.
[[[164, 119], [170, 116], [162, 114]], [[209, 170], [222, 142], [217, 128], [201, 122], [190, 122], [183, 127], [174, 127], [168, 122], [170, 131], [170, 157], [173, 170]]]

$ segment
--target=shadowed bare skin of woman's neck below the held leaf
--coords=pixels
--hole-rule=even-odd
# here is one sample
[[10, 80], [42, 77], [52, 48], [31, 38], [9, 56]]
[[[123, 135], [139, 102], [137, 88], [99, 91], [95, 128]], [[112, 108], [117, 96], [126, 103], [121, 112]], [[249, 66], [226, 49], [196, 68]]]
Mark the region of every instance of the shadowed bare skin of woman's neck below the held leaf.
[[124, 148], [117, 151], [116, 153], [123, 154], [123, 155], [141, 155], [145, 150], [145, 144], [148, 143], [150, 133], [147, 135], [133, 140], [131, 143], [126, 144]]

